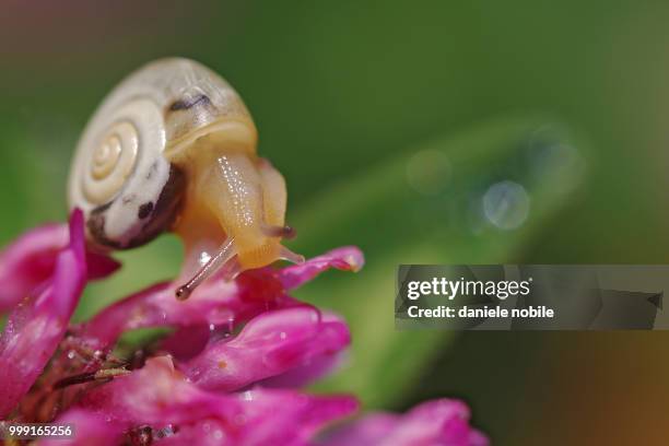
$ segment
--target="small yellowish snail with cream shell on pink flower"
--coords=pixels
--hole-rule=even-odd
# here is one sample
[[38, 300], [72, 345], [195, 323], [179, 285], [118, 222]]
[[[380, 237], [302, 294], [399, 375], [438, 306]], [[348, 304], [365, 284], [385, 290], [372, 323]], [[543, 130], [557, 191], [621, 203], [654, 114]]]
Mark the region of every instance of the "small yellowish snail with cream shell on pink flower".
[[227, 279], [278, 259], [284, 247], [283, 176], [257, 155], [257, 130], [239, 95], [188, 59], [151, 62], [99, 105], [70, 168], [70, 209], [83, 211], [92, 249], [144, 245], [164, 232], [184, 243], [176, 291], [188, 295], [221, 269]]

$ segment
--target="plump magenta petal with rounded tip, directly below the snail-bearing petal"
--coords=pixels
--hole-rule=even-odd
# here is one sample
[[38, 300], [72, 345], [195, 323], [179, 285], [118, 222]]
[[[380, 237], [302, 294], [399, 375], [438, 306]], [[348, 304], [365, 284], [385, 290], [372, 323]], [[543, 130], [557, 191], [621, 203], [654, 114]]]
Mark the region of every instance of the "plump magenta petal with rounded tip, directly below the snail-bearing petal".
[[267, 312], [233, 339], [213, 343], [180, 367], [199, 387], [235, 390], [331, 356], [351, 341], [340, 318], [310, 306]]

